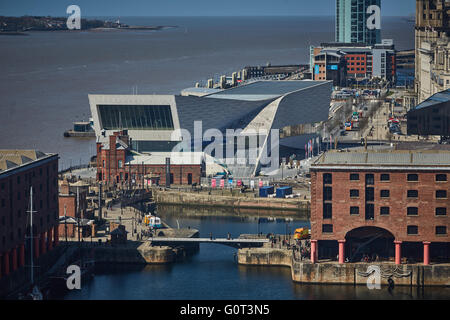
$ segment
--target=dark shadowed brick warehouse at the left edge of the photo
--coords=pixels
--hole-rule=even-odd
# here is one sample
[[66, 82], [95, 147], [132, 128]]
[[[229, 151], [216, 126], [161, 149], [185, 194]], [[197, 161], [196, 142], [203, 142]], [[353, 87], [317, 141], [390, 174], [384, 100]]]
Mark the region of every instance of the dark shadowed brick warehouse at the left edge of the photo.
[[58, 155], [0, 150], [0, 278], [29, 263], [30, 187], [38, 258], [58, 245]]

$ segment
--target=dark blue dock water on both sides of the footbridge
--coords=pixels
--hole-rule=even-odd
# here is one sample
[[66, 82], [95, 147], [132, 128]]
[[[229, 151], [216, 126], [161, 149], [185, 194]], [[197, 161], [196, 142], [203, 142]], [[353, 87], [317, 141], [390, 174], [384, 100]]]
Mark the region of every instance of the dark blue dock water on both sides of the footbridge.
[[[164, 214], [169, 224], [191, 226], [200, 230], [200, 236], [210, 232], [217, 237], [255, 233], [284, 234], [287, 227], [309, 226], [306, 221], [259, 224], [244, 217], [184, 217]], [[112, 266], [97, 269], [92, 281], [65, 299], [136, 299], [136, 300], [309, 300], [309, 299], [448, 299], [450, 288], [395, 287], [369, 290], [365, 286], [305, 285], [292, 281], [288, 267], [239, 266], [235, 261], [236, 249], [202, 244], [200, 251], [183, 262], [171, 265]]]

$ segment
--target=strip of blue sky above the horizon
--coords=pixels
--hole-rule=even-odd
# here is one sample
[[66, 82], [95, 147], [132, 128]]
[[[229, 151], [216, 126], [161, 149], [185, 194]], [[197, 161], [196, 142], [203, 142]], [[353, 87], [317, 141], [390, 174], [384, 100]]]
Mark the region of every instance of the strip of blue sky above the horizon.
[[[336, 0], [0, 0], [0, 16], [333, 16]], [[410, 16], [415, 0], [382, 0], [383, 16]]]

